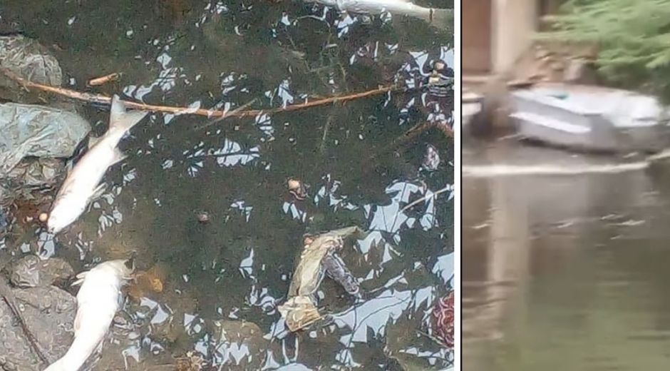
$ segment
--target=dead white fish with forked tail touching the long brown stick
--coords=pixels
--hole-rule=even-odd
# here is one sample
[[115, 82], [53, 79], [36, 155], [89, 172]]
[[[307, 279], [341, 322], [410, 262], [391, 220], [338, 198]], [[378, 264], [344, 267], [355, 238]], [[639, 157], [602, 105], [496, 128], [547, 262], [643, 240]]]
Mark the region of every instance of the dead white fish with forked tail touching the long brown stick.
[[58, 233], [81, 215], [91, 199], [103, 189], [100, 181], [107, 169], [122, 161], [125, 155], [116, 147], [126, 132], [145, 116], [143, 111], [125, 111], [118, 96], [112, 98], [108, 131], [98, 138], [88, 152], [72, 168], [56, 194], [47, 228]]

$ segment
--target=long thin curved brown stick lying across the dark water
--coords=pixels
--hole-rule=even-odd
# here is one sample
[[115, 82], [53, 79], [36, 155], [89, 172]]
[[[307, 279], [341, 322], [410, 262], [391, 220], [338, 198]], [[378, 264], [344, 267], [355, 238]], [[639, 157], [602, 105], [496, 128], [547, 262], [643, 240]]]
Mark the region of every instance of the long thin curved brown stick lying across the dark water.
[[[105, 96], [103, 94], [94, 94], [94, 93], [85, 93], [81, 91], [74, 91], [67, 88], [59, 88], [57, 86], [48, 86], [41, 83], [33, 83], [31, 81], [17, 76], [16, 73], [9, 71], [7, 68], [0, 68], [0, 72], [5, 76], [11, 78], [17, 83], [24, 86], [24, 88], [33, 88], [36, 90], [47, 91], [49, 93], [54, 93], [59, 96], [65, 96], [67, 98], [76, 99], [78, 101], [86, 101], [89, 103], [97, 103], [101, 105], [110, 106], [112, 103], [112, 98], [110, 96]], [[316, 107], [316, 106], [325, 106], [326, 104], [332, 103], [345, 103], [348, 101], [354, 101], [355, 99], [367, 98], [370, 96], [378, 96], [383, 93], [388, 93], [389, 91], [399, 90], [397, 86], [381, 86], [380, 88], [372, 89], [370, 91], [363, 91], [361, 93], [353, 93], [342, 96], [331, 96], [329, 98], [317, 99], [316, 101], [306, 101], [304, 103], [292, 104], [291, 106], [271, 108], [268, 110], [242, 110], [242, 111], [220, 111], [220, 110], [209, 110], [204, 108], [189, 108], [189, 107], [174, 107], [174, 106], [156, 106], [153, 104], [137, 103], [133, 101], [123, 101], [125, 106], [128, 108], [135, 108], [141, 111], [153, 111], [153, 112], [163, 112], [163, 113], [172, 113], [175, 115], [191, 114], [197, 116], [206, 116], [206, 117], [249, 117], [249, 116], [258, 116], [260, 113], [279, 113], [279, 112], [291, 112], [291, 111], [300, 111], [306, 108]]]

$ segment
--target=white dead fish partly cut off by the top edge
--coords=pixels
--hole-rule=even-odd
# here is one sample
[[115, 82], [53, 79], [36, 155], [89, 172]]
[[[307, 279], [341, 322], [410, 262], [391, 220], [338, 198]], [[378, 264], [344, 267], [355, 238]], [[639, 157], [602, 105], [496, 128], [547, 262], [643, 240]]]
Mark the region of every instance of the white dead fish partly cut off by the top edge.
[[311, 0], [339, 11], [361, 14], [391, 14], [413, 16], [442, 29], [453, 28], [453, 9], [424, 8], [408, 0]]

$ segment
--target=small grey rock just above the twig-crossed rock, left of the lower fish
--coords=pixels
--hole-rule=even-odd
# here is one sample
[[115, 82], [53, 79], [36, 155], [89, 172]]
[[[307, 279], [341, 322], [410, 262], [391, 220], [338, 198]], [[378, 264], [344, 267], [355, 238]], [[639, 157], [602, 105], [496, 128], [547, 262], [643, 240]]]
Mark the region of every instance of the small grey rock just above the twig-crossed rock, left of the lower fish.
[[36, 255], [29, 255], [14, 264], [11, 283], [18, 288], [46, 287], [68, 280], [73, 275], [74, 270], [65, 260], [42, 260]]

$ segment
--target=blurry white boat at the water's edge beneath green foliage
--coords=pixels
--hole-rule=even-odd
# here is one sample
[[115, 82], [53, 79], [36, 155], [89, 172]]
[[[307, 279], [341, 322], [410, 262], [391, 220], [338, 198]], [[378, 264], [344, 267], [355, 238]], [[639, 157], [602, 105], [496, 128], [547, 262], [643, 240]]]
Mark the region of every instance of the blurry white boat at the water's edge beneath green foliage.
[[522, 138], [587, 151], [657, 152], [670, 144], [670, 111], [654, 96], [546, 83], [512, 91]]

